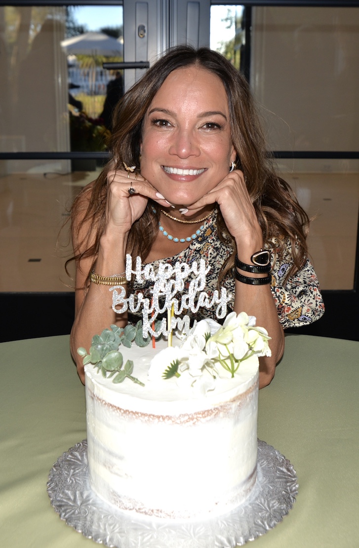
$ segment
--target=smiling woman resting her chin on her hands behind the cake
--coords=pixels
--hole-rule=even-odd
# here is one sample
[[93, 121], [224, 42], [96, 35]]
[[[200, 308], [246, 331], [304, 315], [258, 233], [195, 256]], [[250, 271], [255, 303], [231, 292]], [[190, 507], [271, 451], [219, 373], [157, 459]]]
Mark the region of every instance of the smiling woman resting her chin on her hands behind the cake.
[[[124, 95], [113, 127], [111, 159], [72, 209], [71, 349], [81, 380], [77, 348], [133, 319], [113, 312], [105, 284], [121, 279], [129, 253], [154, 267], [206, 259], [207, 292], [225, 287], [230, 308], [269, 332], [260, 387], [269, 384], [283, 327], [317, 319], [323, 303], [307, 260], [307, 215], [266, 158], [246, 80], [207, 48], [173, 48]], [[129, 286], [151, 295], [149, 284]]]

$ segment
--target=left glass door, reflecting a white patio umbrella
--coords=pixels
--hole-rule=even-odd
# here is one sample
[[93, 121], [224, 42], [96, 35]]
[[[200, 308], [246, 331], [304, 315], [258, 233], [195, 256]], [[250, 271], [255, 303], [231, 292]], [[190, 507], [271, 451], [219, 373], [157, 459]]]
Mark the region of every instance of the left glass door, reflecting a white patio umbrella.
[[1, 2], [0, 36], [0, 337], [69, 333], [65, 221], [107, 156], [122, 2]]

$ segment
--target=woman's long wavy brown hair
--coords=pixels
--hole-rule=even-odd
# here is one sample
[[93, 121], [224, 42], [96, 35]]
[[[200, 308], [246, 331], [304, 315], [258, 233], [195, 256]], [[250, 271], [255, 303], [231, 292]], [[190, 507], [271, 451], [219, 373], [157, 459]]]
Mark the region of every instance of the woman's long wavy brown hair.
[[[163, 55], [119, 101], [113, 115], [113, 132], [109, 142], [110, 161], [91, 189], [79, 193], [72, 206], [71, 224], [75, 255], [69, 260], [93, 258], [95, 264], [100, 237], [106, 225], [107, 173], [123, 169], [123, 164], [135, 165], [140, 172], [140, 143], [143, 121], [153, 97], [170, 72], [195, 65], [213, 72], [224, 84], [230, 113], [233, 145], [237, 151], [236, 167], [241, 169], [263, 231], [266, 247], [281, 255], [289, 238], [292, 244], [293, 266], [287, 278], [297, 272], [307, 256], [306, 235], [309, 218], [300, 207], [289, 185], [279, 178], [266, 150], [257, 108], [248, 82], [223, 55], [208, 48], [194, 49], [187, 45], [171, 48]], [[89, 193], [84, 200], [83, 193]], [[88, 204], [86, 212], [80, 211]], [[158, 209], [158, 208], [157, 208]], [[78, 241], [78, 218], [92, 227], [92, 244]], [[159, 213], [153, 214], [151, 203], [130, 230], [126, 252], [146, 259], [158, 231]], [[230, 244], [233, 252], [223, 265], [218, 286], [234, 266], [235, 241], [218, 212], [218, 237]], [[275, 244], [273, 244], [275, 242]], [[79, 249], [86, 248], [79, 252]], [[69, 262], [67, 261], [67, 262]], [[92, 269], [90, 269], [91, 271]], [[90, 272], [88, 273], [90, 276]]]

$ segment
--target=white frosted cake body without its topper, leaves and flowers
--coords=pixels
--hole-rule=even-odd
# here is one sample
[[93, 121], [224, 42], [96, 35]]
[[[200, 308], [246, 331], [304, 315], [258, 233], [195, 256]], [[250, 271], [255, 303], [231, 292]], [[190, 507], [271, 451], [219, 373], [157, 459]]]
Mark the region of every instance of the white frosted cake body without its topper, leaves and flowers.
[[166, 347], [163, 340], [156, 349], [119, 347], [145, 386], [127, 378], [113, 384], [86, 365], [90, 486], [117, 509], [139, 515], [203, 519], [229, 512], [257, 478], [261, 354], [244, 359], [233, 378], [215, 373], [206, 392], [176, 376], [149, 380], [151, 361], [161, 365]]

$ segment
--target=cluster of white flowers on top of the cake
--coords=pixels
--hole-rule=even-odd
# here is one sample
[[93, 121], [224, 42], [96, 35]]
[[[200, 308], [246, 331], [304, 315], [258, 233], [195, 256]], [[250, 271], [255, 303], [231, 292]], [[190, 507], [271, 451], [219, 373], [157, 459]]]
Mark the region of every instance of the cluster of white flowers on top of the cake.
[[201, 320], [178, 346], [158, 352], [151, 361], [149, 380], [176, 376], [179, 386], [206, 393], [214, 390], [216, 378], [233, 378], [244, 360], [270, 356], [269, 339], [264, 328], [255, 327], [255, 317], [246, 312], [231, 312], [223, 326]]

